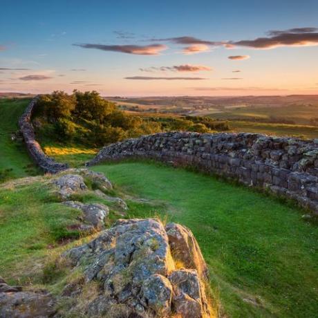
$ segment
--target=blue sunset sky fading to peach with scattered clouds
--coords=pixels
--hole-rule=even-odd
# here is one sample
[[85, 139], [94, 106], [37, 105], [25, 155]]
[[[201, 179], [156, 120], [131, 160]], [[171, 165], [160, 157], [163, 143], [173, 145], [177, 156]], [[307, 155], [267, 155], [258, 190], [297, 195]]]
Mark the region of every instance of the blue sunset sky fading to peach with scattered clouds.
[[318, 94], [317, 0], [0, 0], [0, 92]]

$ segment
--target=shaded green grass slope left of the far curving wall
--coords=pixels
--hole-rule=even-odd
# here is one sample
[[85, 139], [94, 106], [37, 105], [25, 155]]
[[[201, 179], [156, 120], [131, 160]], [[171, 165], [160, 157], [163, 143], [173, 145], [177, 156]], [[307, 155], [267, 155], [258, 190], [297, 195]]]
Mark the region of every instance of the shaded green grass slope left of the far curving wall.
[[18, 130], [17, 121], [29, 102], [30, 99], [0, 100], [0, 176], [3, 176], [0, 182], [1, 179], [21, 178], [37, 172], [25, 145], [11, 139], [11, 134]]

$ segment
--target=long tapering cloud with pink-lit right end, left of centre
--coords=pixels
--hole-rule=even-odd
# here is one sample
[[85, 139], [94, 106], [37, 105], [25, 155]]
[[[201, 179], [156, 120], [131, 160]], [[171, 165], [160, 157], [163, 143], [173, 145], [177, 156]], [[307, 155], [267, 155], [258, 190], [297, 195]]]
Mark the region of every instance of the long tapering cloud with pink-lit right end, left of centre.
[[103, 45], [103, 44], [73, 44], [81, 48], [96, 48], [97, 50], [136, 54], [136, 55], [158, 55], [162, 50], [167, 50], [167, 46], [162, 44], [150, 44], [146, 46], [138, 45]]

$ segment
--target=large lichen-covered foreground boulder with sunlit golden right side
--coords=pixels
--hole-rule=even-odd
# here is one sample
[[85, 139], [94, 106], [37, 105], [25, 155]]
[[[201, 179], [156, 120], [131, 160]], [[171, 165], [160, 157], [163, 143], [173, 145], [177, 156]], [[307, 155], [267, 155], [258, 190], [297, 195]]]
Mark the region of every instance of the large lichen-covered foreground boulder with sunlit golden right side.
[[[179, 251], [183, 263], [176, 259]], [[158, 219], [119, 220], [63, 257], [84, 270], [82, 287], [66, 286], [69, 297], [75, 297], [70, 308], [74, 315], [85, 284], [97, 281], [99, 291], [81, 307], [88, 317], [212, 317], [205, 262], [194, 236], [181, 225], [165, 228]]]

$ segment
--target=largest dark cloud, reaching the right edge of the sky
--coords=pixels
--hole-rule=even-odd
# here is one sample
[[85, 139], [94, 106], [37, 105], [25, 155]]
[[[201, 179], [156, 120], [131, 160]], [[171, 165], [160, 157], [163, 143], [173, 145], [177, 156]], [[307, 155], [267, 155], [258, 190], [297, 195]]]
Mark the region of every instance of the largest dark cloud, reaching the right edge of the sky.
[[288, 30], [272, 30], [268, 37], [252, 40], [231, 41], [234, 46], [250, 48], [277, 48], [279, 46], [318, 46], [318, 28], [291, 28]]

